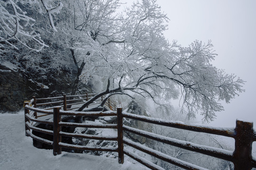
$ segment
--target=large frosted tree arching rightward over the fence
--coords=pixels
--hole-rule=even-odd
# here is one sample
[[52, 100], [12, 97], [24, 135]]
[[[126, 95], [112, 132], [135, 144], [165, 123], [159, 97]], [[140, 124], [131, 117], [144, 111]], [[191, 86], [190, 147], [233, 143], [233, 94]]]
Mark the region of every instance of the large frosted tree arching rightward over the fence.
[[108, 97], [131, 96], [129, 91], [150, 96], [157, 103], [177, 99], [181, 93], [183, 108], [188, 109], [189, 116], [201, 111], [208, 121], [214, 119], [216, 111], [223, 110], [219, 100], [229, 102], [243, 92], [243, 80], [211, 65], [216, 54], [210, 41], [195, 41], [189, 47], [181, 47], [176, 41], [166, 40], [163, 31], [167, 29], [168, 18], [155, 0], [137, 1], [110, 19], [117, 24], [106, 23], [95, 30], [91, 28], [93, 24], [80, 24], [81, 29], [88, 25], [93, 30], [88, 40], [94, 40], [87, 43], [90, 55], [85, 56], [81, 78], [99, 76], [105, 82], [105, 90], [78, 110], [84, 110], [103, 95], [106, 97], [98, 109]]

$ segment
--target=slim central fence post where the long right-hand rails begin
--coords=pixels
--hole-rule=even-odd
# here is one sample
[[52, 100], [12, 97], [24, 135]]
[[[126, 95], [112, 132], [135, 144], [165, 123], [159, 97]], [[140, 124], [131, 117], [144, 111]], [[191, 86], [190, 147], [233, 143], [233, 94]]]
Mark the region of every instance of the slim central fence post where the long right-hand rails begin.
[[118, 143], [118, 162], [123, 164], [123, 108], [117, 108], [117, 143]]

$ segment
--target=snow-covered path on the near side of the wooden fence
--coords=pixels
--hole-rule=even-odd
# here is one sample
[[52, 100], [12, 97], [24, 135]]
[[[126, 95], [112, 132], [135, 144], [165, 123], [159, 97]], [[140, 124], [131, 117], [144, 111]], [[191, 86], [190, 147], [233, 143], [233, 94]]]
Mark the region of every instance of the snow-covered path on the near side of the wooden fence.
[[25, 136], [24, 114], [0, 114], [0, 170], [145, 170], [128, 161], [35, 148]]

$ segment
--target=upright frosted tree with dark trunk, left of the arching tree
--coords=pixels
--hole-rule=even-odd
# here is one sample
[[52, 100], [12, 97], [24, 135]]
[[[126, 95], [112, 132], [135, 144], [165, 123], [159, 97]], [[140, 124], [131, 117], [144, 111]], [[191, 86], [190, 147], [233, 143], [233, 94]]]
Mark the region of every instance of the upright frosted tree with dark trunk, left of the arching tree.
[[63, 3], [66, 12], [57, 16], [56, 40], [69, 51], [68, 55], [77, 69], [71, 92], [74, 95], [82, 71], [87, 72], [88, 67], [84, 67], [95, 57], [91, 53], [98, 51], [99, 46], [105, 43], [105, 37], [115, 34], [117, 21], [114, 12], [120, 4], [119, 0], [63, 0]]

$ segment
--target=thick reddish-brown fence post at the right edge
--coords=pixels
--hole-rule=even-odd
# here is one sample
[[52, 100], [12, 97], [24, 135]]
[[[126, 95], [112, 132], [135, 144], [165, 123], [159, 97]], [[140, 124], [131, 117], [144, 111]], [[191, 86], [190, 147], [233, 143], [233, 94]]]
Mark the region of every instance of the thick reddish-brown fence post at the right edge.
[[234, 170], [251, 170], [253, 123], [241, 120], [236, 123]]

